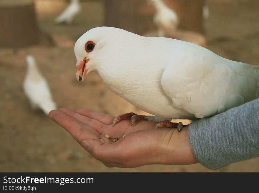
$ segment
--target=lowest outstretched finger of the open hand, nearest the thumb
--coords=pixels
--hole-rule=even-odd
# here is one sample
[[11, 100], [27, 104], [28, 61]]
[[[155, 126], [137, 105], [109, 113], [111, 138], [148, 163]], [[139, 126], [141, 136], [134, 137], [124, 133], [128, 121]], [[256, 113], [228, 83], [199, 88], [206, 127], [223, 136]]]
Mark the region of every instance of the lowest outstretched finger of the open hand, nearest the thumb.
[[97, 139], [99, 137], [97, 132], [94, 133], [90, 131], [91, 128], [89, 126], [82, 127], [81, 124], [61, 111], [55, 112], [53, 120], [67, 130], [78, 142], [86, 138]]

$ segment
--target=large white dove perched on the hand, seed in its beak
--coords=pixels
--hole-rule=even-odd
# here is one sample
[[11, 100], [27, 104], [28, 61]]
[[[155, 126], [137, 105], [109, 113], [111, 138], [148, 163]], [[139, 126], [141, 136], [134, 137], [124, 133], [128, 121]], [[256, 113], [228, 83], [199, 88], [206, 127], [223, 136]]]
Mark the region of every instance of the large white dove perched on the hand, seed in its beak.
[[[92, 28], [75, 43], [77, 80], [97, 71], [115, 94], [162, 121], [206, 118], [259, 97], [259, 66], [232, 61], [193, 43], [143, 37], [112, 27]], [[163, 120], [166, 120], [163, 122]], [[181, 124], [177, 125], [181, 130]]]

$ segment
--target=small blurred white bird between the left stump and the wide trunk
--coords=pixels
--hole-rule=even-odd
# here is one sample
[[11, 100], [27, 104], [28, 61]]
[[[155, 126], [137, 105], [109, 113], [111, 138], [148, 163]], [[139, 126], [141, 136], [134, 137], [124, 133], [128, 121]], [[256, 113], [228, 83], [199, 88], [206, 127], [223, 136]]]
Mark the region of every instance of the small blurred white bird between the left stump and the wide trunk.
[[55, 19], [55, 23], [63, 23], [67, 24], [72, 23], [74, 16], [79, 14], [80, 5], [79, 0], [71, 0], [70, 5]]

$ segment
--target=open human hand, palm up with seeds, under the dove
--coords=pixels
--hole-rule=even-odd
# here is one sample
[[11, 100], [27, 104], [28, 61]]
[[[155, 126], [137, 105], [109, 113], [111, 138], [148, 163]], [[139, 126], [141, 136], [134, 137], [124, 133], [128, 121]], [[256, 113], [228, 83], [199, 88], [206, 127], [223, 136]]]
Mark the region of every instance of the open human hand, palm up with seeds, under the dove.
[[[87, 109], [52, 110], [49, 117], [107, 167], [139, 167], [149, 164], [197, 163], [188, 138], [188, 127], [155, 129], [157, 122], [123, 120], [112, 126], [112, 115]], [[109, 135], [108, 139], [105, 135]], [[125, 136], [124, 136], [125, 135]], [[113, 139], [118, 137], [117, 142]]]

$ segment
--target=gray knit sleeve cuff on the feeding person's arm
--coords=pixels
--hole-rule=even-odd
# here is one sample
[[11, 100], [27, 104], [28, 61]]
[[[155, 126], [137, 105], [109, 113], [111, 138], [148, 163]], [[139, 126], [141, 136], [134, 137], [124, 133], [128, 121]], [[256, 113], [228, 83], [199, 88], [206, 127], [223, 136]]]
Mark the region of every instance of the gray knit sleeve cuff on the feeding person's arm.
[[220, 169], [259, 156], [259, 99], [189, 125], [192, 152], [200, 164]]

